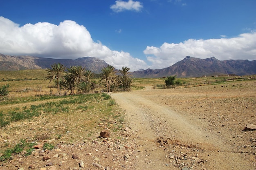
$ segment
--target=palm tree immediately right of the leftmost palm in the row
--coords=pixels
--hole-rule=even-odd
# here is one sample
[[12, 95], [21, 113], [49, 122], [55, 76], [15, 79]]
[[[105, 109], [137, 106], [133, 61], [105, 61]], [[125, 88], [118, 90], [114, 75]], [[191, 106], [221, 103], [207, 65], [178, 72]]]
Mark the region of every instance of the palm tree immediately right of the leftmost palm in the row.
[[74, 86], [75, 83], [80, 83], [83, 80], [85, 80], [85, 67], [82, 66], [71, 66], [70, 68], [67, 68], [67, 71], [69, 72], [70, 77], [70, 86], [71, 86], [71, 93], [74, 94]]

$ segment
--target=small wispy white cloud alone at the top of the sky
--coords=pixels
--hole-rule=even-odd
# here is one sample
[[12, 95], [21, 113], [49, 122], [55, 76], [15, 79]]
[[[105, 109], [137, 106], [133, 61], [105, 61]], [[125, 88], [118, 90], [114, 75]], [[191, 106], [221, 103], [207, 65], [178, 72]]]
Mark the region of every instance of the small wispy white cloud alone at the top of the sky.
[[115, 12], [121, 12], [125, 10], [139, 12], [141, 11], [142, 8], [143, 8], [142, 2], [133, 1], [133, 0], [128, 0], [128, 2], [117, 0], [116, 4], [110, 6], [110, 9], [112, 9]]

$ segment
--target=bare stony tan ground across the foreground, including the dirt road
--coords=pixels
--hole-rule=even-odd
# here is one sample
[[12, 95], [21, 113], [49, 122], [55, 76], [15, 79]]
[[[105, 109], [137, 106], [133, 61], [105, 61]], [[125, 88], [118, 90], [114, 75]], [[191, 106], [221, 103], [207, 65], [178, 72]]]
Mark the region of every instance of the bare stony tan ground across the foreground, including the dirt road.
[[[83, 120], [89, 118], [69, 114], [1, 128], [2, 147], [35, 135], [42, 138], [37, 144], [55, 147], [13, 155], [0, 170], [256, 169], [256, 131], [244, 130], [247, 124], [256, 124], [255, 80], [171, 89], [147, 86], [110, 96], [117, 103], [115, 114], [125, 115], [125, 121], [101, 120], [97, 128], [85, 130]], [[104, 127], [110, 138], [99, 137]], [[58, 130], [65, 135], [43, 138]], [[70, 138], [74, 140], [67, 142]]]

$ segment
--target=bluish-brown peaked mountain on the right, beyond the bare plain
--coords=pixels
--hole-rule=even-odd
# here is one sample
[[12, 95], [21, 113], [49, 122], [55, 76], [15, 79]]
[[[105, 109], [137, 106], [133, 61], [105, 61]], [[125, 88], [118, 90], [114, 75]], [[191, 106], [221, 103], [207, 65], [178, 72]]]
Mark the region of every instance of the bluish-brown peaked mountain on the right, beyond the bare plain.
[[135, 71], [132, 77], [167, 77], [176, 75], [177, 77], [200, 77], [204, 75], [253, 75], [256, 74], [256, 60], [225, 60], [220, 61], [215, 57], [199, 59], [186, 56], [180, 62], [167, 68], [152, 70], [148, 68], [144, 71]]

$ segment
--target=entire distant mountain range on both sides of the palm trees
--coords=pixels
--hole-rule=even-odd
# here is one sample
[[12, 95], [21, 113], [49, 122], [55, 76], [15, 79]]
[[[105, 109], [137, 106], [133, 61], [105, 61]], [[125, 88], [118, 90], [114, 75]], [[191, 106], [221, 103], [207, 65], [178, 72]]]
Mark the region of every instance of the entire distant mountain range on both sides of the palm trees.
[[[83, 66], [96, 74], [101, 68], [108, 66], [105, 61], [95, 57], [81, 57], [72, 59], [52, 59], [33, 56], [11, 56], [0, 54], [0, 70], [27, 70], [50, 68], [54, 63], [64, 64], [66, 67]], [[180, 62], [162, 69], [146, 69], [134, 71], [132, 77], [158, 78], [176, 75], [177, 77], [200, 77], [209, 75], [254, 75], [256, 74], [256, 60], [225, 60], [215, 57], [199, 59], [186, 56]]]

